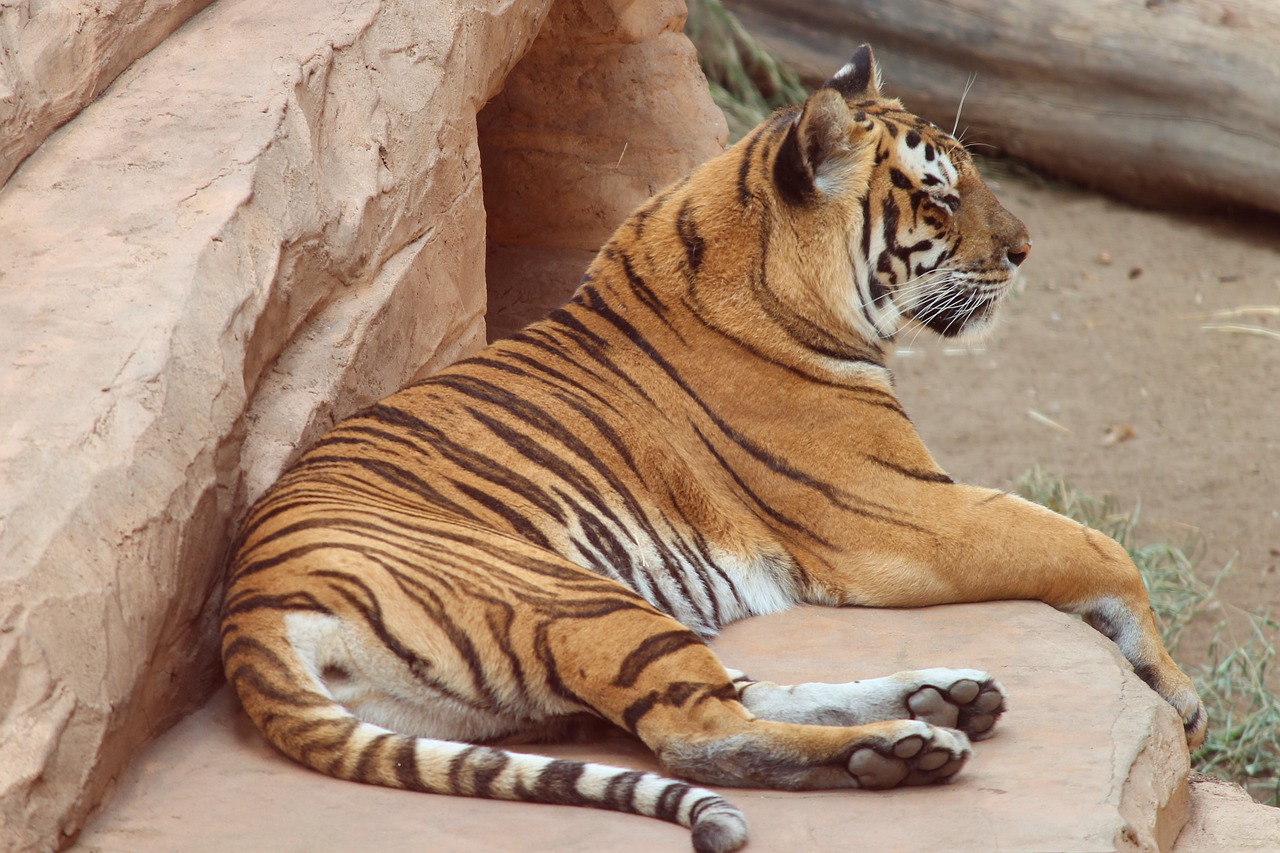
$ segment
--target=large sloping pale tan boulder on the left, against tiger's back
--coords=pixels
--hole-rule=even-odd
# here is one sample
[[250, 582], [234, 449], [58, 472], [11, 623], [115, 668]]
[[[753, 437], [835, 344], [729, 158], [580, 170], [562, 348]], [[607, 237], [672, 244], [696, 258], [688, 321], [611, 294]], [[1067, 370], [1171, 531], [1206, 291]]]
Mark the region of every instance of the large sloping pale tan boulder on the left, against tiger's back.
[[[664, 169], [714, 146], [677, 5], [567, 1], [548, 102], [612, 41], [595, 102], [653, 77], [692, 117], [613, 132]], [[298, 450], [483, 343], [475, 117], [549, 6], [221, 0], [0, 190], [0, 849], [65, 844], [209, 695], [234, 523]]]

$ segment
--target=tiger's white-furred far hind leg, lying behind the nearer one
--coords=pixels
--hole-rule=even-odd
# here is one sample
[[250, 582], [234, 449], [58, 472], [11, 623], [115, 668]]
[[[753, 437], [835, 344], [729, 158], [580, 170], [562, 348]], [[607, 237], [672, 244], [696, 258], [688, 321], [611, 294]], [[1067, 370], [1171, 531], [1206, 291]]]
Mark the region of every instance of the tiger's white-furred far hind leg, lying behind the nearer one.
[[920, 720], [959, 729], [972, 740], [995, 734], [1005, 693], [989, 672], [929, 669], [845, 684], [782, 685], [728, 670], [739, 699], [758, 717], [780, 722], [856, 726]]

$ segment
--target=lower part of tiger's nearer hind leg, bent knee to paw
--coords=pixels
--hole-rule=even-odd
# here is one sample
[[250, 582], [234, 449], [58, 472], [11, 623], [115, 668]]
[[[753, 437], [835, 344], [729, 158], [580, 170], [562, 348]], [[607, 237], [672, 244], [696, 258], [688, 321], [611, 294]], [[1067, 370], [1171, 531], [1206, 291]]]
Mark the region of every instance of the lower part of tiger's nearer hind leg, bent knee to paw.
[[577, 702], [635, 734], [669, 771], [699, 783], [923, 785], [948, 780], [970, 754], [964, 733], [924, 720], [814, 725], [754, 715], [710, 648], [639, 598], [591, 620], [548, 622], [541, 648]]

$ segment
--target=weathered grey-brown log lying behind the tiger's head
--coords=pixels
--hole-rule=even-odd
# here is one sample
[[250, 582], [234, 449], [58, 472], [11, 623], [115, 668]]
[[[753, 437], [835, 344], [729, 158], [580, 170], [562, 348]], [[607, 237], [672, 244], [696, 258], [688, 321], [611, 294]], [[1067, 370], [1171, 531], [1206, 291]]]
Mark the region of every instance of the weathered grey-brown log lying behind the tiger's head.
[[870, 42], [887, 92], [978, 152], [1149, 206], [1280, 211], [1270, 0], [728, 5], [808, 79]]

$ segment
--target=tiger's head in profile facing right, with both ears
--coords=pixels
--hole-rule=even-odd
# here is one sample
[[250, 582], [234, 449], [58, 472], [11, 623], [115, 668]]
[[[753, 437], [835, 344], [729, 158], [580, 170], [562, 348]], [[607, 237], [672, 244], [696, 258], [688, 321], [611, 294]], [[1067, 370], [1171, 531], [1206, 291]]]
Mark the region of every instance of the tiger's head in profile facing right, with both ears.
[[[810, 350], [881, 350], [913, 327], [945, 337], [979, 329], [1030, 251], [1027, 228], [961, 143], [881, 95], [865, 45], [735, 151], [726, 167], [736, 174], [712, 169], [695, 181], [736, 181], [736, 192], [719, 193], [721, 211], [760, 225], [742, 232], [763, 243], [755, 297]], [[700, 213], [713, 228], [717, 211]]]

